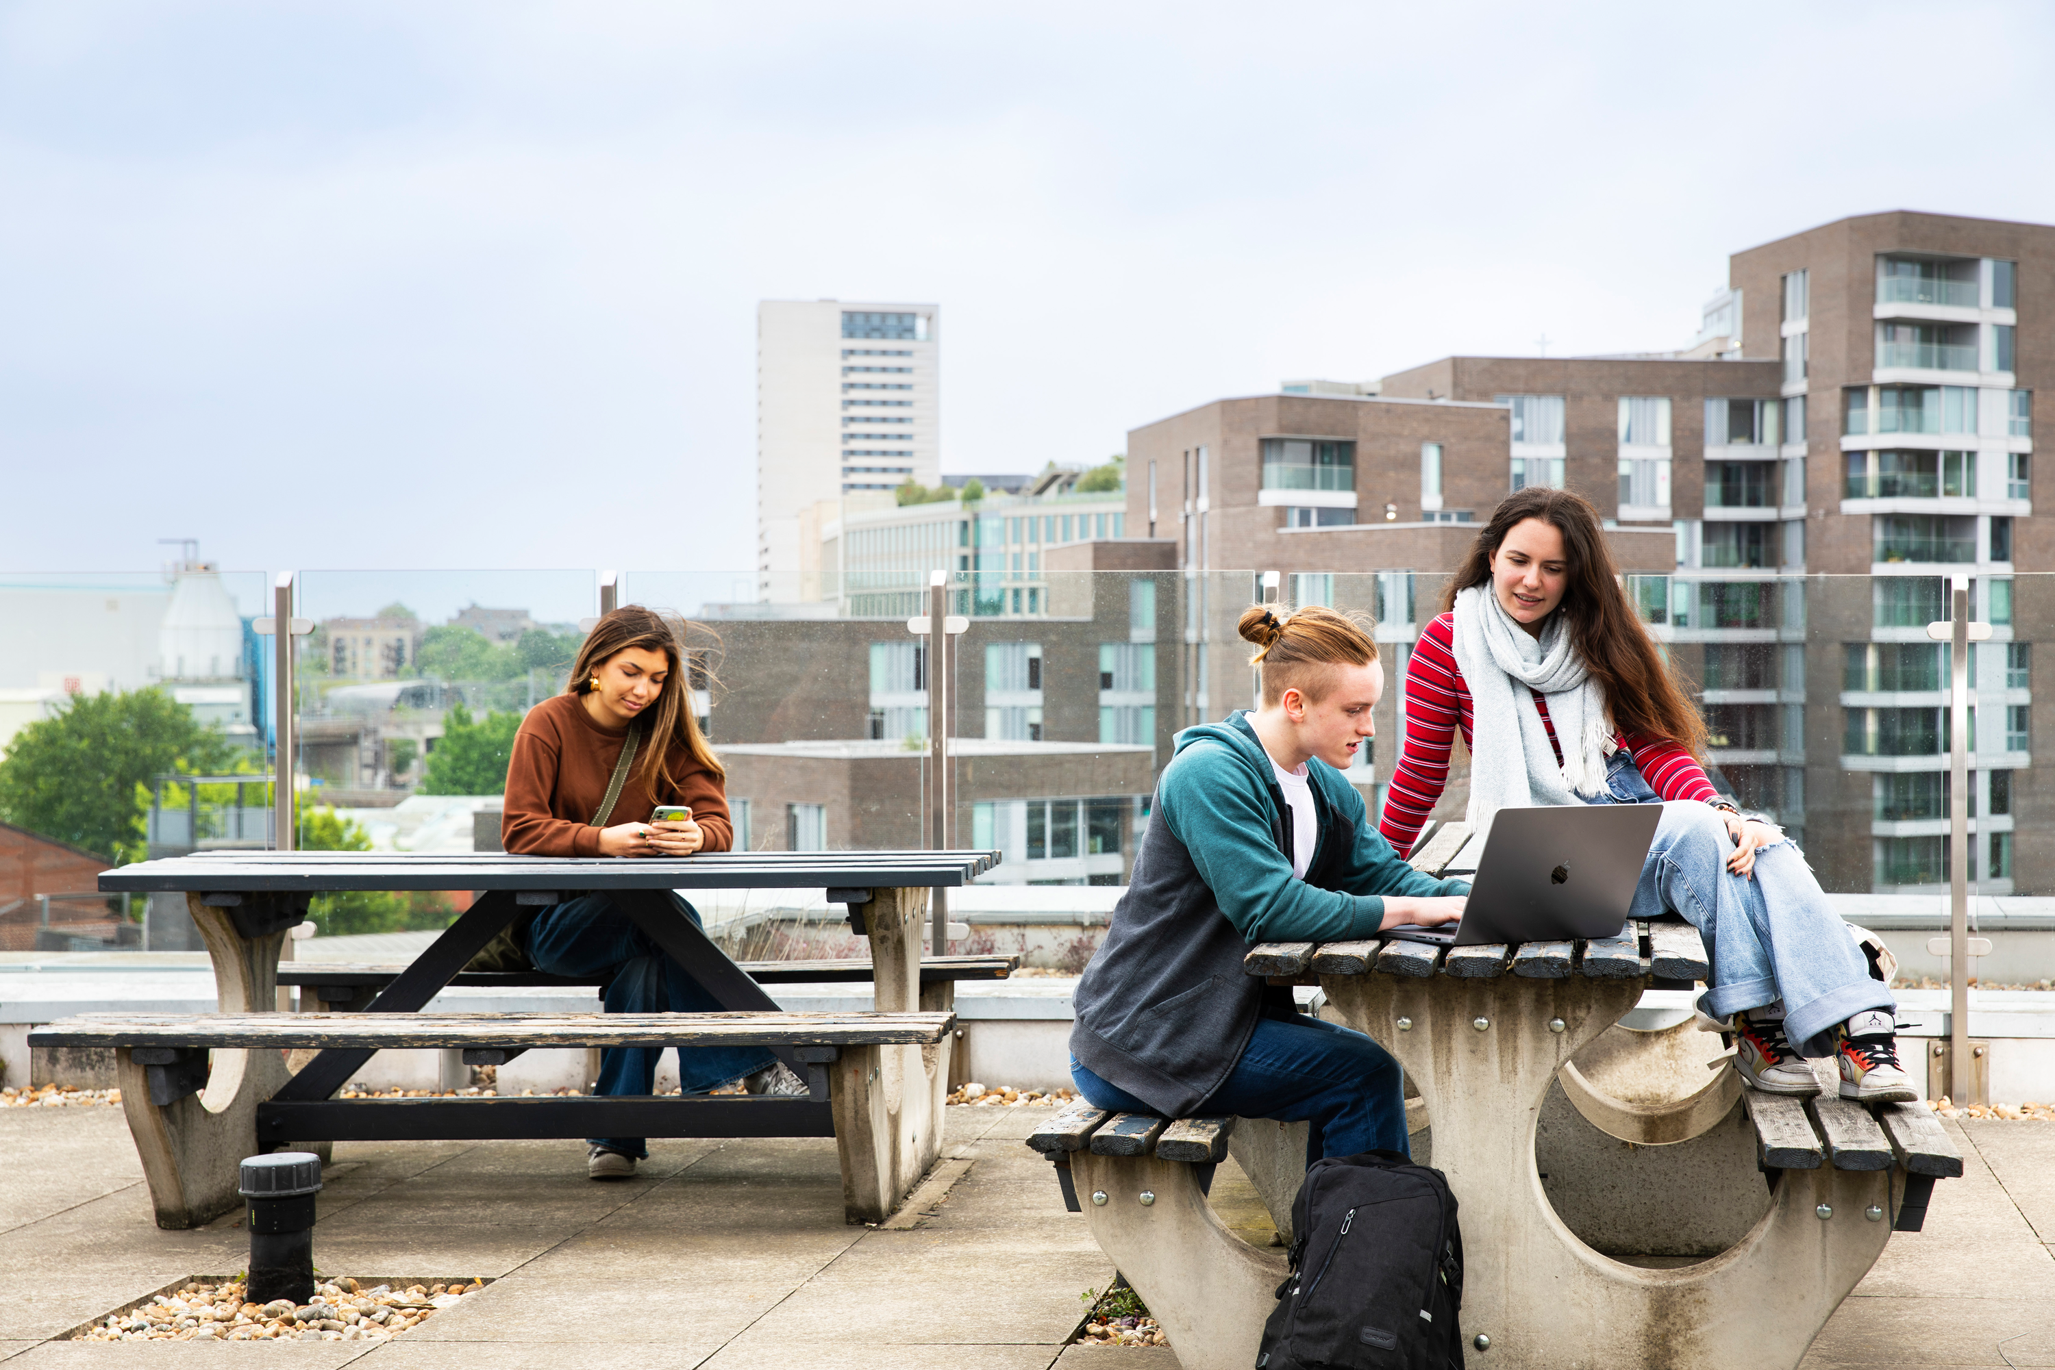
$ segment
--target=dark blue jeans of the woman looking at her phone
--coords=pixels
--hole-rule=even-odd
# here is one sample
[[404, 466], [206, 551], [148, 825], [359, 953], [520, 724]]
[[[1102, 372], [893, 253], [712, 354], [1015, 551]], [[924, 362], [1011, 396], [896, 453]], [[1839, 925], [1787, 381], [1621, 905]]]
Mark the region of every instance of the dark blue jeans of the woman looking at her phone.
[[[699, 926], [699, 910], [684, 914]], [[551, 904], [528, 924], [528, 959], [551, 976], [606, 976], [600, 1002], [606, 1013], [721, 1013], [697, 980], [664, 955], [604, 893]], [[664, 1048], [606, 1048], [600, 1052], [602, 1095], [647, 1095], [656, 1089], [656, 1062]], [[678, 1048], [678, 1084], [703, 1095], [734, 1084], [777, 1058], [762, 1048]], [[647, 1158], [643, 1138], [586, 1138], [592, 1146]]]

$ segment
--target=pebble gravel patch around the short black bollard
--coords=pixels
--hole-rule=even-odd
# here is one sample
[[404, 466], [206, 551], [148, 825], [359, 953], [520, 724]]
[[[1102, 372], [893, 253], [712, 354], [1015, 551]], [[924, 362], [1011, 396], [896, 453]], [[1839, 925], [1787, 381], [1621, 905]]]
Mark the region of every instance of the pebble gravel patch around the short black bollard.
[[483, 1288], [479, 1280], [401, 1284], [345, 1276], [316, 1284], [310, 1304], [279, 1298], [259, 1306], [242, 1300], [240, 1282], [189, 1280], [171, 1294], [109, 1312], [72, 1341], [390, 1341]]

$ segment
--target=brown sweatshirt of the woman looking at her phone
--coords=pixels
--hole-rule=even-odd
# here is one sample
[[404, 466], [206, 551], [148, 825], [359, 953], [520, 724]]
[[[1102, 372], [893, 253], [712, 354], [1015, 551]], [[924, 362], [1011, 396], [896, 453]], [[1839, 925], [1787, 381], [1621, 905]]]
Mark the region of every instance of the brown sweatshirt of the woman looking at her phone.
[[[600, 830], [592, 828], [592, 815], [606, 799], [606, 783], [625, 741], [627, 729], [608, 731], [592, 721], [582, 694], [555, 694], [530, 709], [514, 733], [499, 842], [522, 857], [598, 857]], [[635, 758], [606, 826], [643, 824], [660, 803], [686, 803], [705, 832], [701, 850], [725, 852], [736, 832], [721, 778], [682, 746], [672, 746], [664, 758], [672, 789], [651, 795], [641, 781], [645, 754]]]

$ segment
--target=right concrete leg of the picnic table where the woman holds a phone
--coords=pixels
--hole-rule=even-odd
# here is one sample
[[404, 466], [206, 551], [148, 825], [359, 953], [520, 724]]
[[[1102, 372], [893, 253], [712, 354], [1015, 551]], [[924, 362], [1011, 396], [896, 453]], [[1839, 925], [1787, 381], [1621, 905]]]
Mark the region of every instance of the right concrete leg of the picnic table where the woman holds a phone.
[[[927, 889], [875, 889], [863, 910], [871, 941], [873, 1006], [914, 1013], [921, 994], [921, 926]], [[949, 1045], [845, 1052], [834, 1072], [834, 1136], [843, 1154], [849, 1222], [884, 1222], [941, 1154]], [[865, 1062], [859, 1068], [859, 1062]]]

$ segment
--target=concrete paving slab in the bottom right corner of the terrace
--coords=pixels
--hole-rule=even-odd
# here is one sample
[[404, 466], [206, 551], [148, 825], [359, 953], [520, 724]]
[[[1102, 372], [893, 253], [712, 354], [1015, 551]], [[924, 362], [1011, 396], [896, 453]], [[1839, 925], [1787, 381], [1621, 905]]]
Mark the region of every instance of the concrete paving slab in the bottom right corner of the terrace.
[[2032, 1298], [1860, 1298], [1843, 1302], [1798, 1370], [2055, 1366], [2049, 1306]]

